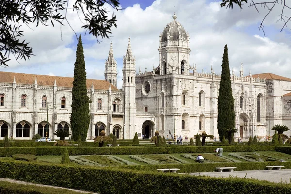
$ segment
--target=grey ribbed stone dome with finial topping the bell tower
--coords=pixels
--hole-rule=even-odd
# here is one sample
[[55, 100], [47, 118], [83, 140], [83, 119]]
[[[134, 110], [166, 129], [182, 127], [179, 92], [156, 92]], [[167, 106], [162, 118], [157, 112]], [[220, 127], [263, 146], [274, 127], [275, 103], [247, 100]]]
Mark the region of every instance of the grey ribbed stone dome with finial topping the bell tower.
[[181, 40], [187, 40], [187, 33], [183, 26], [178, 21], [176, 21], [176, 18], [177, 17], [174, 13], [174, 21], [169, 23], [162, 32], [162, 42], [168, 40], [168, 34], [170, 36], [169, 41], [178, 41], [179, 38]]

